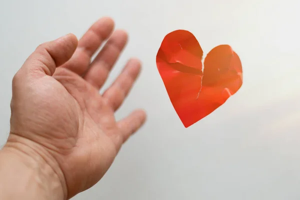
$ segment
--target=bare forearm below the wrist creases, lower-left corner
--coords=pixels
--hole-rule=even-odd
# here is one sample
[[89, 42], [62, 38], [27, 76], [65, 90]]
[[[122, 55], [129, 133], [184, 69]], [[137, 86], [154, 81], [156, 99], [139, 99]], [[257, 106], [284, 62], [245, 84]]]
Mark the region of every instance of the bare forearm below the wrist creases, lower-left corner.
[[0, 150], [0, 199], [63, 200], [56, 176], [42, 159], [13, 147]]

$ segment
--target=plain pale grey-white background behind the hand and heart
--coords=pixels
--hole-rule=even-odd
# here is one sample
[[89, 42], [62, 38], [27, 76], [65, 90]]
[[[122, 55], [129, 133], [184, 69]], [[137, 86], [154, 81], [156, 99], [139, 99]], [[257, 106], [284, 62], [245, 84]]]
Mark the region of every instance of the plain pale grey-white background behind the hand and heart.
[[[73, 199], [300, 199], [299, 0], [0, 0], [0, 144], [9, 132], [11, 79], [35, 47], [97, 18], [114, 18], [143, 70], [122, 117], [148, 120], [106, 175]], [[243, 85], [213, 113], [184, 128], [155, 64], [165, 34], [191, 31], [204, 54], [229, 44]], [[108, 84], [105, 84], [107, 86]]]

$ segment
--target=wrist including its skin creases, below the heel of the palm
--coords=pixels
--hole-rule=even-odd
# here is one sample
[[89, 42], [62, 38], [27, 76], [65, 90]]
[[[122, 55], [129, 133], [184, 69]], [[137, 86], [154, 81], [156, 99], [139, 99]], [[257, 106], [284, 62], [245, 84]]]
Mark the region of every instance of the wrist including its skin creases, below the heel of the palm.
[[0, 150], [0, 199], [66, 199], [60, 168], [38, 144], [10, 134]]

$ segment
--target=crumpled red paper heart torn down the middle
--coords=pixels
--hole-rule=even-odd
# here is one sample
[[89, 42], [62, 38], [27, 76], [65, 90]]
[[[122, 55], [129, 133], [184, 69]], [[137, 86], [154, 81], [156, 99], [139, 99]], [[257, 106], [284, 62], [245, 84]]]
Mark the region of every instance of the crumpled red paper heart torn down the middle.
[[187, 30], [168, 33], [156, 64], [166, 91], [185, 127], [222, 105], [242, 84], [238, 55], [229, 45], [214, 47], [204, 59], [195, 36]]

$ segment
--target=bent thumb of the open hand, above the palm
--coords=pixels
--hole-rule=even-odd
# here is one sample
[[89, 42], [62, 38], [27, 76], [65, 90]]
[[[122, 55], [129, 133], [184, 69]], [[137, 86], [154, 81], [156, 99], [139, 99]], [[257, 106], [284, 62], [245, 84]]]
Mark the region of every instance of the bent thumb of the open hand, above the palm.
[[71, 58], [78, 44], [74, 34], [40, 44], [27, 58], [20, 70], [30, 74], [43, 72], [53, 75], [55, 68]]

